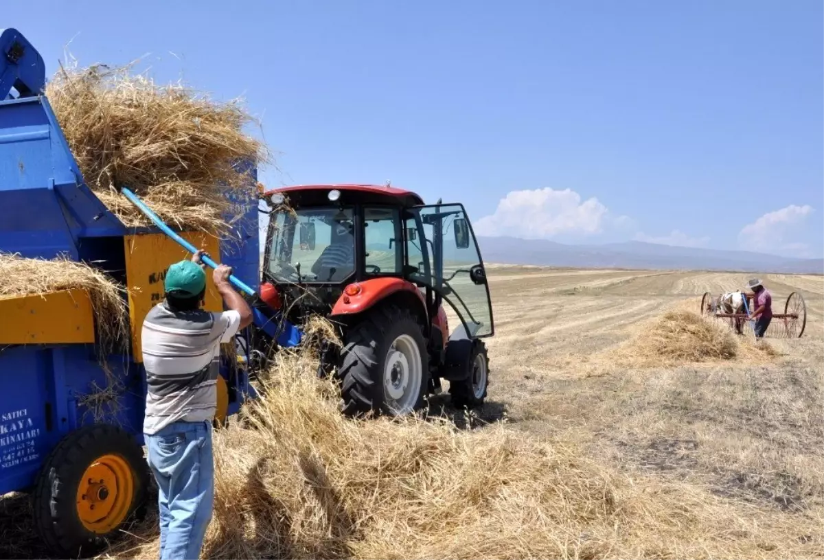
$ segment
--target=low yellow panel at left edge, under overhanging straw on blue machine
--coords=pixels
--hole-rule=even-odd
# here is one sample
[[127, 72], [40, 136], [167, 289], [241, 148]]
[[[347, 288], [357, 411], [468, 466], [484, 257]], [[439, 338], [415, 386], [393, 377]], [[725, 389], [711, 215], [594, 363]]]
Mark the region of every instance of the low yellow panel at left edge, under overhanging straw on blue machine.
[[95, 342], [86, 290], [0, 297], [0, 345]]

